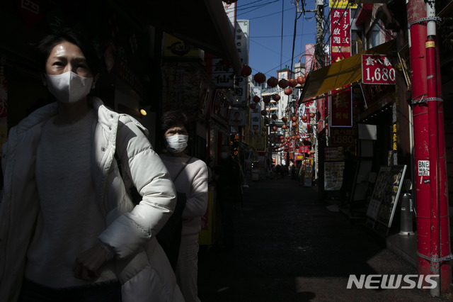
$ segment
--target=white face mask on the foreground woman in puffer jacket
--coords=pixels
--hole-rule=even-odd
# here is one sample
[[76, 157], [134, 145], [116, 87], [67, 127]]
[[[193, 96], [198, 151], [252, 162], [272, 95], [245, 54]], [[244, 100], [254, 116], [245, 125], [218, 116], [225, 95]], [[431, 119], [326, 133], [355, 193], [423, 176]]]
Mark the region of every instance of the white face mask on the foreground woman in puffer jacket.
[[84, 99], [90, 93], [92, 77], [81, 77], [74, 72], [64, 72], [58, 75], [45, 75], [48, 89], [58, 101], [75, 103]]

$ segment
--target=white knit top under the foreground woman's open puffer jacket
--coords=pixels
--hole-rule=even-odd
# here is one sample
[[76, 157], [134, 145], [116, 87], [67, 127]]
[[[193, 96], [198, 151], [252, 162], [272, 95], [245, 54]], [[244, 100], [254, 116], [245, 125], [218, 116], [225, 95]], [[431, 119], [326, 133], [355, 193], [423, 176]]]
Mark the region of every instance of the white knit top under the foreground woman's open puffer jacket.
[[[44, 286], [67, 288], [91, 284], [73, 276], [80, 252], [98, 242], [105, 230], [91, 177], [92, 130], [96, 112], [71, 125], [47, 122], [38, 145], [36, 181], [40, 213], [27, 253], [25, 277]], [[116, 279], [106, 264], [97, 281]]]

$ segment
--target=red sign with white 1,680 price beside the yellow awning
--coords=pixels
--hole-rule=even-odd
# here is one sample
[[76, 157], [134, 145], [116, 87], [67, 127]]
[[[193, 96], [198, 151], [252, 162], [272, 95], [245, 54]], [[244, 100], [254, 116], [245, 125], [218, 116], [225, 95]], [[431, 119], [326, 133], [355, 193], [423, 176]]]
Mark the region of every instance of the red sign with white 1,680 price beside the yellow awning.
[[362, 55], [363, 84], [395, 84], [394, 57]]

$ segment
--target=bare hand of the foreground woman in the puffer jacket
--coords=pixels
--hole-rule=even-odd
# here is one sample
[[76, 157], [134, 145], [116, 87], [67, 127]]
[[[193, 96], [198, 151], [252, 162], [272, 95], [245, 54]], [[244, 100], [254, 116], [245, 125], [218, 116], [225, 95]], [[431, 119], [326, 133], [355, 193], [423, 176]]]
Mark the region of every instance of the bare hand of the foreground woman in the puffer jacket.
[[72, 265], [74, 277], [86, 281], [96, 279], [99, 276], [98, 269], [106, 261], [107, 255], [105, 250], [102, 247], [102, 243], [98, 242], [98, 244], [77, 255]]

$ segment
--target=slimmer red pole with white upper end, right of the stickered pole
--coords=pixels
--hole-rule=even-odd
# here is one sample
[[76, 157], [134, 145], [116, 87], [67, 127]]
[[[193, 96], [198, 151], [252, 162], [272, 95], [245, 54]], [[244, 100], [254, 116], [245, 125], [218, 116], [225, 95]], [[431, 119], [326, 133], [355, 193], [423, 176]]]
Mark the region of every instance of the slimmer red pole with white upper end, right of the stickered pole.
[[[426, 4], [428, 18], [435, 17], [434, 1]], [[449, 292], [452, 270], [449, 261], [449, 213], [447, 191], [447, 162], [445, 153], [445, 129], [440, 85], [440, 62], [437, 55], [436, 22], [427, 23], [426, 61], [428, 84], [428, 128], [430, 145], [430, 230], [431, 274], [440, 275], [440, 286], [431, 290], [432, 296]], [[445, 259], [442, 261], [442, 259]]]

